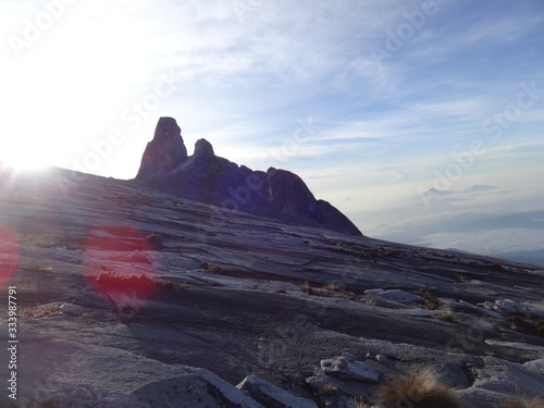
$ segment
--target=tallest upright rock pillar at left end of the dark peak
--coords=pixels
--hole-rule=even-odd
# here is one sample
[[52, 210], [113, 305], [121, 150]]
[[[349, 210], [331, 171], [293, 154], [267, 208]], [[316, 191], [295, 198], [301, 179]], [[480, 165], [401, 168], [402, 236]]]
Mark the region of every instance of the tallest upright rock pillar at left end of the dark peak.
[[153, 139], [147, 144], [136, 178], [165, 174], [187, 159], [182, 129], [175, 119], [161, 118]]

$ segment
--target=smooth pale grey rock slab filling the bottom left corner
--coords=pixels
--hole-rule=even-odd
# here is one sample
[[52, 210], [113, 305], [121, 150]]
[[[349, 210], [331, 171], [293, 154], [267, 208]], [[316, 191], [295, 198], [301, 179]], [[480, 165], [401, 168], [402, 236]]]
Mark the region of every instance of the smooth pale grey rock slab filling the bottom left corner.
[[264, 408], [207, 369], [64, 339], [48, 344], [47, 354], [42, 347], [42, 342], [29, 342], [21, 351], [20, 370], [26, 374], [17, 400], [4, 393], [1, 407]]

